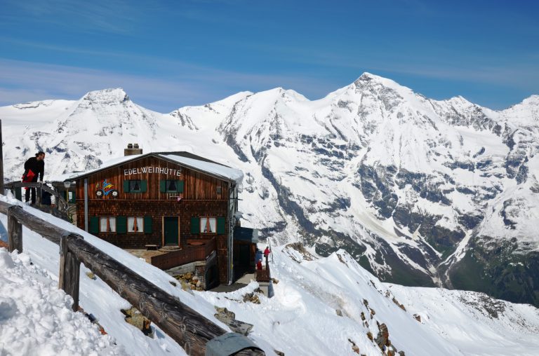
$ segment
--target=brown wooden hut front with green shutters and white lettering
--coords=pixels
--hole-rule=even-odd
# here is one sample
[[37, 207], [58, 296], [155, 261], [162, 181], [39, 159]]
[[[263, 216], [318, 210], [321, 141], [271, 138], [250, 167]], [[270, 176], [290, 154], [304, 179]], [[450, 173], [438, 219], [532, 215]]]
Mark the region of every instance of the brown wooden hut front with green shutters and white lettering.
[[[219, 279], [229, 282], [231, 219], [237, 212], [232, 179], [148, 153], [74, 180], [79, 228], [87, 226], [99, 238], [132, 249], [145, 245], [184, 248], [187, 240], [215, 237]], [[168, 189], [171, 182], [172, 191]]]

